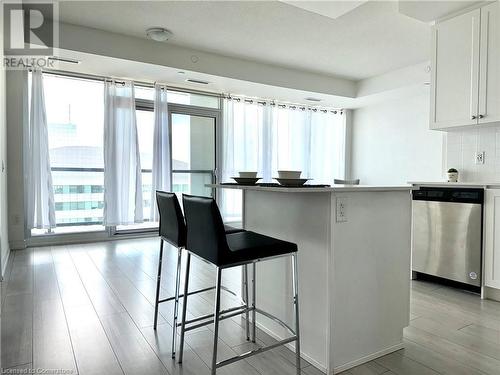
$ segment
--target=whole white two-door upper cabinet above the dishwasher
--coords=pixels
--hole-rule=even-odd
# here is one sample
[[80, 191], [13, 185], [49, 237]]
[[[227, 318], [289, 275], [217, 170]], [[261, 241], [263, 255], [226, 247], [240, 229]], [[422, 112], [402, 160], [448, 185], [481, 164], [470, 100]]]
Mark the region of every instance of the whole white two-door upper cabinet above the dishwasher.
[[431, 129], [500, 121], [500, 5], [433, 29]]

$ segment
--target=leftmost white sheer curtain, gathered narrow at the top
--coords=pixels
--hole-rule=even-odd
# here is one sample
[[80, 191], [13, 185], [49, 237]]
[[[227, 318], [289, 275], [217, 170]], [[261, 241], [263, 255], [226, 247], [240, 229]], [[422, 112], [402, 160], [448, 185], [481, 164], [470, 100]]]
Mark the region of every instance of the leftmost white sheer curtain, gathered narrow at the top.
[[28, 227], [49, 229], [56, 226], [56, 217], [42, 72], [34, 70], [31, 77], [26, 163]]

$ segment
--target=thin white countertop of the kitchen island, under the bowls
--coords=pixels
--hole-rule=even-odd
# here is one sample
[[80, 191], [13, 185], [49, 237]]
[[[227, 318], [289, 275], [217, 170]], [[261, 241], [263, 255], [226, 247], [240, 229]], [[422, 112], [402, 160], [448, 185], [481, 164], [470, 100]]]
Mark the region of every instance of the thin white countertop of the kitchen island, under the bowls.
[[280, 186], [246, 186], [236, 184], [207, 184], [216, 189], [238, 189], [254, 191], [277, 191], [284, 193], [331, 193], [331, 192], [365, 192], [365, 191], [410, 191], [411, 185], [332, 185], [331, 187], [280, 187]]

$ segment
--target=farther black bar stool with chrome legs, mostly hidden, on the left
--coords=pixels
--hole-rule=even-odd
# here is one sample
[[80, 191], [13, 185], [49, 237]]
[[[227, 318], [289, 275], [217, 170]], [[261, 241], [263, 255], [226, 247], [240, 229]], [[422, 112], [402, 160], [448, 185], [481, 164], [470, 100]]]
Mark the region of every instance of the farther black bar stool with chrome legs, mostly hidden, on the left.
[[[185, 295], [193, 295], [197, 293], [207, 292], [209, 290], [215, 289], [215, 287], [203, 288], [189, 293], [187, 292], [186, 289], [184, 294], [179, 294], [182, 250], [186, 247], [186, 223], [184, 221], [184, 216], [182, 214], [179, 200], [177, 199], [177, 195], [175, 195], [175, 193], [157, 191], [156, 202], [160, 214], [160, 226], [159, 226], [160, 259], [158, 261], [158, 275], [156, 279], [155, 317], [154, 317], [153, 327], [156, 330], [158, 325], [158, 308], [160, 303], [174, 301], [172, 358], [175, 358], [177, 327], [179, 326], [179, 324], [177, 323], [178, 313], [179, 313], [179, 299], [183, 298]], [[230, 226], [224, 226], [224, 230], [227, 233], [238, 233], [243, 231], [242, 229], [235, 229]], [[175, 295], [169, 298], [160, 299], [161, 267], [163, 262], [164, 241], [168, 242], [169, 244], [177, 248], [177, 270], [175, 278]]]

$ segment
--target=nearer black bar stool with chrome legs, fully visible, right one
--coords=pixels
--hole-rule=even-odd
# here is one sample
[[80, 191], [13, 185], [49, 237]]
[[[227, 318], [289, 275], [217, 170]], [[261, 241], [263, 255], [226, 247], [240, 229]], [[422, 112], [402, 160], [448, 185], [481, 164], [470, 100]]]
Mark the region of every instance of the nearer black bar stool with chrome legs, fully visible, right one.
[[[179, 363], [182, 362], [184, 350], [184, 335], [185, 332], [192, 329], [199, 328], [204, 325], [214, 324], [214, 342], [213, 342], [213, 355], [212, 355], [212, 375], [216, 374], [217, 368], [229, 365], [236, 361], [251, 357], [253, 355], [274, 349], [278, 346], [295, 342], [295, 355], [296, 355], [296, 368], [297, 375], [300, 375], [300, 333], [299, 333], [299, 298], [298, 298], [298, 270], [297, 270], [297, 245], [291, 242], [282, 241], [276, 238], [264, 236], [251, 231], [244, 231], [239, 233], [226, 234], [224, 231], [224, 224], [222, 217], [217, 207], [217, 203], [212, 198], [197, 197], [183, 194], [182, 196], [184, 215], [186, 218], [187, 226], [187, 242], [186, 249], [187, 265], [186, 265], [186, 278], [184, 283], [184, 304], [181, 318], [181, 338], [179, 344]], [[200, 319], [193, 319], [186, 321], [186, 308], [188, 304], [187, 290], [189, 284], [189, 271], [191, 255], [200, 257], [212, 263], [217, 270], [216, 287], [215, 287], [215, 309], [213, 321], [205, 321], [189, 327], [186, 324], [198, 322]], [[291, 256], [292, 258], [292, 273], [293, 273], [293, 303], [295, 305], [295, 329], [290, 328], [285, 322], [277, 317], [260, 310], [255, 306], [255, 263], [277, 258], [282, 256]], [[220, 297], [221, 297], [221, 276], [222, 270], [243, 266], [244, 277], [247, 276], [246, 266], [252, 264], [254, 267], [253, 274], [253, 300], [252, 306], [248, 306], [248, 298], [246, 297], [247, 305], [242, 307], [231, 308], [227, 310], [220, 310]], [[246, 282], [245, 282], [246, 283]], [[246, 291], [245, 294], [248, 294]], [[275, 322], [281, 324], [290, 333], [291, 337], [278, 341], [275, 344], [258, 348], [247, 353], [229, 358], [227, 360], [217, 362], [217, 341], [219, 332], [219, 321], [230, 318], [239, 314], [247, 314], [247, 337], [248, 337], [248, 312], [252, 312], [253, 327], [252, 327], [252, 341], [255, 342], [255, 313], [260, 313], [268, 318], [273, 319]]]

